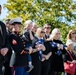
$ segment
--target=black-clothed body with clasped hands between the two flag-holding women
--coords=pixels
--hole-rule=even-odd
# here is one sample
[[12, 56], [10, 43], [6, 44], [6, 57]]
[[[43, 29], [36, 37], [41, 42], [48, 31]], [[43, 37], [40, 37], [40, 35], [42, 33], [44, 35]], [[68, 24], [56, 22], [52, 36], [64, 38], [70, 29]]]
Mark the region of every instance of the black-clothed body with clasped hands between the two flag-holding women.
[[51, 66], [52, 50], [49, 41], [44, 41], [44, 46], [46, 50], [43, 51], [43, 60], [41, 62], [41, 75], [48, 75]]

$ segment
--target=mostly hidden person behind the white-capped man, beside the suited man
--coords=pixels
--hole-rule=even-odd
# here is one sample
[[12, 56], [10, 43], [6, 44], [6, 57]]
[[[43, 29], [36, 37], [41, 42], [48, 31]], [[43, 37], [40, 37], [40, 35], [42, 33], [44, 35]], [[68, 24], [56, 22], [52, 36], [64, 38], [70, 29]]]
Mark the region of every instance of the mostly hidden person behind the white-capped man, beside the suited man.
[[[6, 20], [6, 24], [5, 24], [6, 25], [6, 30], [7, 30], [7, 36], [8, 37], [9, 37], [9, 35], [11, 33], [9, 31], [9, 21], [10, 21], [10, 19], [7, 19]], [[12, 75], [11, 67], [9, 66], [11, 55], [12, 55], [12, 48], [11, 48], [11, 45], [9, 44], [9, 51], [7, 53], [7, 60], [4, 63], [4, 67], [5, 67], [4, 75]]]

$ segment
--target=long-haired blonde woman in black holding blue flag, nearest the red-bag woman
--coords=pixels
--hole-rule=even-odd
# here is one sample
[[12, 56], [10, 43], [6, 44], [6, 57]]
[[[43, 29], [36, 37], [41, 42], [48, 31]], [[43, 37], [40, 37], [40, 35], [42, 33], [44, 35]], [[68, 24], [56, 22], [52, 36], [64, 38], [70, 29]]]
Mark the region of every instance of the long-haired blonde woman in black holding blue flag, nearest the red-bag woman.
[[63, 42], [61, 41], [61, 34], [58, 28], [54, 28], [51, 33], [52, 47], [52, 63], [51, 63], [51, 75], [61, 75], [64, 72], [62, 55], [66, 53]]

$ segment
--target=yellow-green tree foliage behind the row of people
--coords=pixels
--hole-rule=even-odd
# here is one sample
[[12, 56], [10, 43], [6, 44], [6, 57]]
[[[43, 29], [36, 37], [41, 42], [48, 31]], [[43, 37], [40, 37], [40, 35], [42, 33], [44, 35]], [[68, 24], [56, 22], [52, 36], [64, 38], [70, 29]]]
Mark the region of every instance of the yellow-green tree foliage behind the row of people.
[[[27, 19], [35, 21], [38, 26], [49, 23], [52, 29], [61, 29], [62, 40], [65, 42], [66, 35], [74, 26], [67, 22], [76, 20], [76, 4], [73, 0], [8, 0], [5, 4], [8, 9], [7, 18], [21, 17], [23, 22]], [[62, 22], [62, 17], [66, 20]]]

